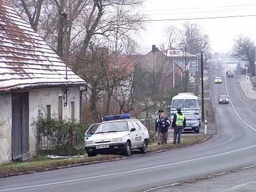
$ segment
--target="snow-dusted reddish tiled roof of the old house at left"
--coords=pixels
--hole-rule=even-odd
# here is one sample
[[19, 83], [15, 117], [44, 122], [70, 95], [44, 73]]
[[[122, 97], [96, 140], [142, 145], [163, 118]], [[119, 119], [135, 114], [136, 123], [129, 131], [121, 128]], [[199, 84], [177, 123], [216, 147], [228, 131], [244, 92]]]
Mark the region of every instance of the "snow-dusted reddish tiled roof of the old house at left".
[[21, 16], [0, 1], [0, 92], [32, 87], [79, 86], [68, 68]]

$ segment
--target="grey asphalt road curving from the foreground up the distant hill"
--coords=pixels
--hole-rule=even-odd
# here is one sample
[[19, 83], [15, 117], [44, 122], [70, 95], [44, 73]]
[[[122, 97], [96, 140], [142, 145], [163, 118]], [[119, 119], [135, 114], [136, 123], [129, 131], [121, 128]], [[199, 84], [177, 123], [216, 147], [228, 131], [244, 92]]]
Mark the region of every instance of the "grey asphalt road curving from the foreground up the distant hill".
[[[115, 162], [6, 177], [0, 179], [0, 191], [146, 191], [254, 165], [256, 109], [252, 106], [256, 103], [244, 97], [235, 77], [226, 82], [227, 88], [226, 84], [212, 84], [217, 133], [202, 144]], [[218, 96], [225, 93], [231, 102], [219, 105]], [[214, 191], [216, 185], [207, 189]]]

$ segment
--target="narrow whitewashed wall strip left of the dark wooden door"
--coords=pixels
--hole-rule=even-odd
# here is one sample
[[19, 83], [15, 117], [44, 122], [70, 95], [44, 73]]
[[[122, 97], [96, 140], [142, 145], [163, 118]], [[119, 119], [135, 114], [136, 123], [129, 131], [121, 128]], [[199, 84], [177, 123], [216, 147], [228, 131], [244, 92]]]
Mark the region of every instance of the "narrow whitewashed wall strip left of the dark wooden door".
[[12, 94], [0, 94], [0, 165], [12, 159]]

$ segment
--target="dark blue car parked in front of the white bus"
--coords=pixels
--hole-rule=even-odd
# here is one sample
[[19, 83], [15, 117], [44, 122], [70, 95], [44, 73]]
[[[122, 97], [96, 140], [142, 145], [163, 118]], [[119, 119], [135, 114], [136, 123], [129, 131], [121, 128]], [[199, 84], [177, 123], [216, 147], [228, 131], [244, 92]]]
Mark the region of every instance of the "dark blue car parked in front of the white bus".
[[196, 115], [194, 113], [183, 113], [186, 117], [186, 127], [183, 132], [195, 132], [199, 133], [199, 122], [197, 121]]

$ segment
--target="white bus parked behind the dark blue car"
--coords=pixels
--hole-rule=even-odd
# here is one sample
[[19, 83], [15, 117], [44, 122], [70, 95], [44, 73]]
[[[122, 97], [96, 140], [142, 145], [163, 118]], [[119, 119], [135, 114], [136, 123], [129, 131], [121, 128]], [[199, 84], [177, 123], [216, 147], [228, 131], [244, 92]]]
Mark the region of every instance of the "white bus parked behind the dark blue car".
[[172, 98], [171, 102], [171, 121], [174, 114], [177, 113], [176, 108], [180, 107], [182, 112], [191, 112], [196, 115], [199, 127], [201, 126], [201, 108], [200, 100], [194, 93], [179, 93]]

